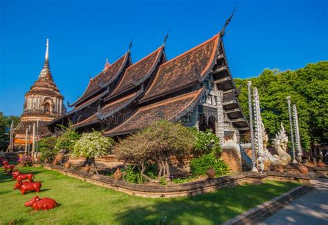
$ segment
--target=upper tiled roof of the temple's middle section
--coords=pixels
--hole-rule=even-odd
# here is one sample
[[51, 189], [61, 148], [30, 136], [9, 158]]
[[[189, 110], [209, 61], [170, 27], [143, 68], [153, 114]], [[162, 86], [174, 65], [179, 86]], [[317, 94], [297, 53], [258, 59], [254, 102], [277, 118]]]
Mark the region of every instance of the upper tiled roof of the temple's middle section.
[[113, 93], [111, 93], [111, 96], [109, 98], [129, 90], [149, 78], [149, 75], [151, 75], [154, 72], [154, 69], [156, 69], [158, 61], [161, 59], [162, 54], [163, 46], [157, 48], [156, 51], [150, 53], [142, 60], [139, 60], [138, 62], [129, 66], [129, 68], [125, 70], [125, 73], [122, 75], [118, 86], [116, 87], [116, 89], [114, 89]]

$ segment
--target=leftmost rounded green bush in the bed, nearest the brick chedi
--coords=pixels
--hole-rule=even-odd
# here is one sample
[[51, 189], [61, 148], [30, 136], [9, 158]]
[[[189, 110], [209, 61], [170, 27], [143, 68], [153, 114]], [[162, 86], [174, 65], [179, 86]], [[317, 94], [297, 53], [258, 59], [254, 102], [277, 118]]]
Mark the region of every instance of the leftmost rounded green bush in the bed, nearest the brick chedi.
[[57, 138], [54, 136], [48, 136], [46, 138], [42, 138], [38, 143], [38, 151], [42, 153], [41, 160], [48, 159], [49, 161], [53, 161], [55, 156], [60, 152], [55, 148]]

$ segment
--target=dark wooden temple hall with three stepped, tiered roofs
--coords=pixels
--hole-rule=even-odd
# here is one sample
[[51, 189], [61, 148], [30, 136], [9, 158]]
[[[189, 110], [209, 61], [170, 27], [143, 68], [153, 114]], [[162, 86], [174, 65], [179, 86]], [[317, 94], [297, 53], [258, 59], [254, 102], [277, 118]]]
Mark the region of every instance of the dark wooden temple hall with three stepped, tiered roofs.
[[118, 137], [165, 119], [212, 129], [222, 141], [239, 141], [248, 122], [224, 51], [230, 19], [219, 33], [172, 60], [167, 60], [164, 41], [133, 64], [130, 46], [91, 78], [73, 110], [48, 123], [49, 129], [55, 132], [56, 125], [70, 124], [78, 132], [102, 130], [105, 136]]

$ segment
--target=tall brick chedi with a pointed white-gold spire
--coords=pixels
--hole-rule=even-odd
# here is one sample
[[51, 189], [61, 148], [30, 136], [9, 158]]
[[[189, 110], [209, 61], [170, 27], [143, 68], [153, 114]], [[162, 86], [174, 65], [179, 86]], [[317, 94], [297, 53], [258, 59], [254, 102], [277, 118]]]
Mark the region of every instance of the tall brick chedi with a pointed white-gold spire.
[[44, 125], [66, 111], [63, 105], [64, 97], [51, 75], [48, 52], [47, 39], [44, 66], [39, 73], [39, 78], [25, 94], [24, 111], [19, 124], [14, 129], [13, 141], [16, 150], [23, 150], [26, 143], [33, 143], [33, 139], [36, 141], [40, 136], [49, 135], [50, 131]]

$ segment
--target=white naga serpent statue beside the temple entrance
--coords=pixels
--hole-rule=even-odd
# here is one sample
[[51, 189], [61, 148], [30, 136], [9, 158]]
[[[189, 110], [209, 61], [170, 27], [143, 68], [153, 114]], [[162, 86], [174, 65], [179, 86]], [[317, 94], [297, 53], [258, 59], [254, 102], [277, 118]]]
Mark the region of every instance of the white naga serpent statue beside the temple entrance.
[[281, 123], [281, 129], [278, 134], [275, 134], [275, 138], [273, 138], [273, 145], [275, 146], [275, 151], [278, 156], [275, 161], [271, 161], [272, 165], [288, 165], [291, 161], [291, 156], [286, 152], [288, 136], [284, 130], [284, 126]]

